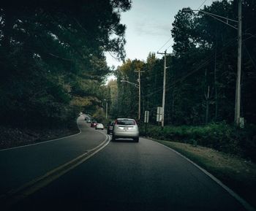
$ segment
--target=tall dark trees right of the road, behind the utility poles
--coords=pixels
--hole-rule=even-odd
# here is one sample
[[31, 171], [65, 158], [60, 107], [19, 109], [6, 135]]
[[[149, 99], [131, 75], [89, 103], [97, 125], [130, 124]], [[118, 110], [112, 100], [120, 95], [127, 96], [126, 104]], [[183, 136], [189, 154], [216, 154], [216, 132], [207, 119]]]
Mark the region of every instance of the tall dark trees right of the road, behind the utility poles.
[[[233, 123], [238, 32], [203, 12], [184, 9], [178, 11], [171, 28], [174, 44], [172, 55], [167, 56], [165, 122], [200, 125], [224, 120]], [[202, 10], [238, 20], [237, 1], [214, 1]], [[242, 1], [241, 116], [246, 123], [256, 123], [255, 11], [256, 1]], [[237, 23], [233, 26], [237, 27]], [[149, 110], [151, 123], [156, 122], [157, 107], [162, 106], [163, 66], [163, 58], [156, 58], [154, 53], [149, 53], [146, 61], [127, 60], [120, 66], [116, 70], [118, 94], [113, 113], [138, 118], [138, 88], [120, 80], [137, 83], [135, 70], [140, 69], [144, 71], [141, 74], [142, 117], [143, 111]]]

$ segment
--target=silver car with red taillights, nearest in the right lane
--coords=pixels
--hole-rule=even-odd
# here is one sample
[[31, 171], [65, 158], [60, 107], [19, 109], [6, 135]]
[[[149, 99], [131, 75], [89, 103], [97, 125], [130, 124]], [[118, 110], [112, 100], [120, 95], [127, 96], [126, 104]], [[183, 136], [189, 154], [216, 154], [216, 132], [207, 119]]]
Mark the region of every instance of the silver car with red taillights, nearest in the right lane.
[[139, 127], [134, 119], [118, 118], [113, 128], [112, 140], [131, 138], [139, 142]]

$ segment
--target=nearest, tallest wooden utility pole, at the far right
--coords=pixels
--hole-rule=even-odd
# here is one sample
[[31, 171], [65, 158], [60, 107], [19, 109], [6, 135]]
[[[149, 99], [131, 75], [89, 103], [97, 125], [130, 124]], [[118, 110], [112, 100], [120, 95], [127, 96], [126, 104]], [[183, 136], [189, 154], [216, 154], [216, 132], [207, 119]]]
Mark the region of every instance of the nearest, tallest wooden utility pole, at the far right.
[[238, 0], [238, 59], [236, 75], [236, 105], [235, 105], [235, 123], [240, 126], [240, 104], [241, 104], [241, 45], [242, 45], [242, 12], [241, 0]]

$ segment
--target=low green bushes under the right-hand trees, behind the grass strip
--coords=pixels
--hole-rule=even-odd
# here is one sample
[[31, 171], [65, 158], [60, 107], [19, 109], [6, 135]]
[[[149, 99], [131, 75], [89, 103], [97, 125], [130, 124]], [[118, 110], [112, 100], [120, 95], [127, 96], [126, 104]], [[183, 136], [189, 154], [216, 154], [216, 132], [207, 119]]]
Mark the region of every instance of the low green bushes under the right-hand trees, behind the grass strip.
[[[140, 126], [140, 134], [145, 134], [144, 126]], [[148, 125], [147, 136], [211, 147], [256, 161], [256, 127], [252, 125], [239, 130], [225, 122], [205, 126], [165, 126], [163, 129]]]

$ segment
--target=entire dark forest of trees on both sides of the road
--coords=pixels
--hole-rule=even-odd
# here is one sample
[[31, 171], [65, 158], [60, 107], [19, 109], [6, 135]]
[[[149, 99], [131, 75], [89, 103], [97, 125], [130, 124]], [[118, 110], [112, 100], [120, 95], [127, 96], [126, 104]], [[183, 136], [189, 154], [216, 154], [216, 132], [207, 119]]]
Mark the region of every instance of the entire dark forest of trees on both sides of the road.
[[[3, 1], [0, 6], [2, 125], [52, 127], [68, 124], [81, 111], [100, 117], [105, 115], [106, 101], [110, 118], [138, 119], [138, 88], [121, 82], [138, 84], [138, 71], [141, 120], [148, 110], [150, 122], [156, 123], [164, 59], [148, 53], [146, 61], [124, 61], [126, 26], [120, 18], [132, 1], [11, 3]], [[201, 10], [237, 20], [237, 4], [236, 0], [214, 1]], [[170, 23], [174, 44], [167, 56], [165, 124], [232, 124], [237, 30], [188, 9], [181, 8]], [[242, 1], [241, 116], [246, 124], [256, 123], [255, 9], [256, 1]], [[123, 65], [111, 69], [105, 53], [124, 61]], [[116, 80], [105, 85], [113, 73]]]

